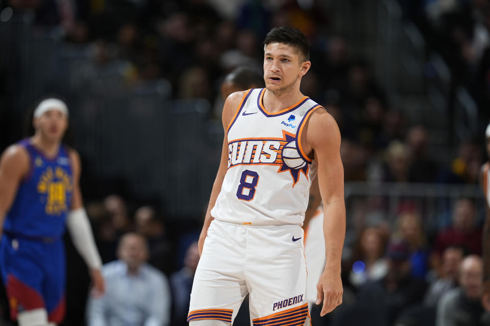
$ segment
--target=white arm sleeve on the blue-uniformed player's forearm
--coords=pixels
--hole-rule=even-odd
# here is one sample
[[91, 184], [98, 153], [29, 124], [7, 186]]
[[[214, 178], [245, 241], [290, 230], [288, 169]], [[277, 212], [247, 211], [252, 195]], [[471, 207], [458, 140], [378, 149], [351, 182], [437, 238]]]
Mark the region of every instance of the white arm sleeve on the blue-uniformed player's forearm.
[[71, 240], [77, 248], [80, 256], [90, 269], [100, 269], [102, 260], [95, 247], [92, 229], [84, 208], [78, 208], [69, 212], [66, 218], [66, 228], [70, 232]]

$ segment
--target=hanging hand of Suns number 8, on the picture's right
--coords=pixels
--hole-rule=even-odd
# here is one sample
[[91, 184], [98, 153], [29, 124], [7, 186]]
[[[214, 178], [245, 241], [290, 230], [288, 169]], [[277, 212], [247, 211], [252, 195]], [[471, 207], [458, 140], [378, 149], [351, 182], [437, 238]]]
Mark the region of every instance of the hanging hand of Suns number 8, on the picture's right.
[[325, 270], [316, 284], [316, 304], [320, 305], [323, 302], [320, 316], [325, 316], [342, 303], [342, 293], [344, 289], [340, 273]]

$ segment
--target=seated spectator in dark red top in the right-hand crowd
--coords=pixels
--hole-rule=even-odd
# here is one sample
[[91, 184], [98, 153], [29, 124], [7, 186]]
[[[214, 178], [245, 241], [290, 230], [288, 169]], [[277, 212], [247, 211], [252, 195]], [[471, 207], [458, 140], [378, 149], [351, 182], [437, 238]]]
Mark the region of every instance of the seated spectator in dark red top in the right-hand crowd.
[[460, 198], [453, 208], [452, 225], [439, 232], [435, 251], [441, 255], [449, 246], [461, 246], [470, 254], [481, 254], [481, 229], [476, 225], [475, 204], [471, 199]]

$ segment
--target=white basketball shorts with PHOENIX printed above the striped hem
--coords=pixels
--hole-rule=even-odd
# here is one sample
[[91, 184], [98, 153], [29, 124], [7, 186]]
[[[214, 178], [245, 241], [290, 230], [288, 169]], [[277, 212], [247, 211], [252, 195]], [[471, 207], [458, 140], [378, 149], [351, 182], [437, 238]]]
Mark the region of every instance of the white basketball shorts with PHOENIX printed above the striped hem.
[[195, 272], [187, 320], [233, 323], [250, 293], [253, 326], [310, 326], [303, 228], [214, 220]]

